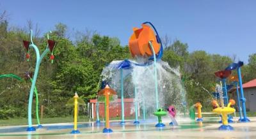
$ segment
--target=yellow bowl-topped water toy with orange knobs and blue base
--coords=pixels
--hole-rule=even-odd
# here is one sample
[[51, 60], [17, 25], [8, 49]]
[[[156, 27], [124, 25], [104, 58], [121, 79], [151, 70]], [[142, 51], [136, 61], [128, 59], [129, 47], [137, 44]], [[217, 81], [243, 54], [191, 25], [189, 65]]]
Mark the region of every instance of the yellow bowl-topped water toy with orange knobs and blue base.
[[230, 106], [235, 105], [236, 101], [234, 99], [230, 99], [227, 106], [223, 106], [223, 104], [220, 106], [218, 104], [218, 101], [213, 100], [212, 101], [212, 107], [214, 108], [212, 112], [218, 113], [222, 117], [222, 125], [219, 130], [233, 130], [234, 128], [230, 125], [228, 125], [228, 114], [236, 112], [234, 108], [231, 108]]

